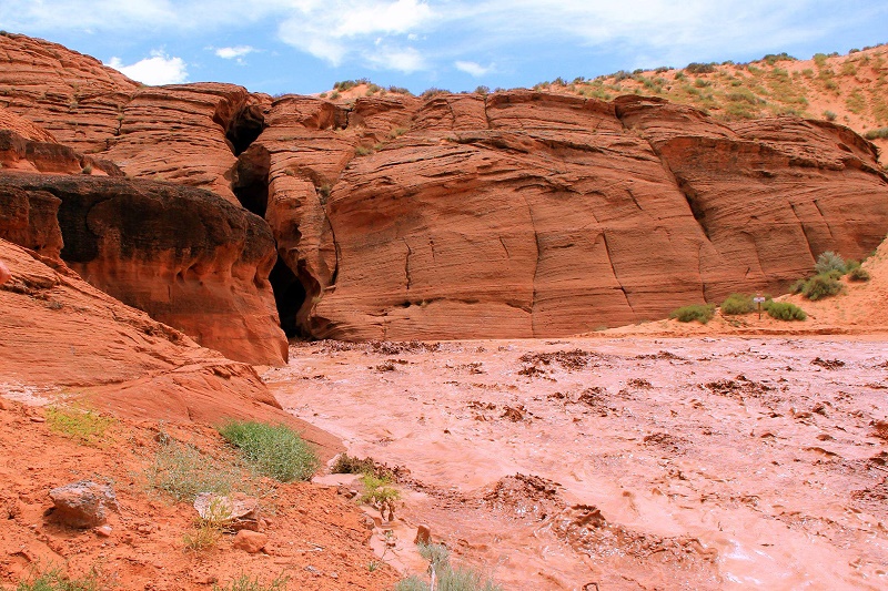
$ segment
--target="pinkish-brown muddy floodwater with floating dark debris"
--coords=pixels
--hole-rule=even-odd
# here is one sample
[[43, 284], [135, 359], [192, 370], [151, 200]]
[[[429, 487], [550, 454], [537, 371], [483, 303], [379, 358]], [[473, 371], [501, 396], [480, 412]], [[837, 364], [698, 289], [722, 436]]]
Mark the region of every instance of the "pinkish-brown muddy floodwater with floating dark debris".
[[506, 589], [888, 588], [884, 340], [290, 354], [281, 404], [406, 468], [398, 519]]

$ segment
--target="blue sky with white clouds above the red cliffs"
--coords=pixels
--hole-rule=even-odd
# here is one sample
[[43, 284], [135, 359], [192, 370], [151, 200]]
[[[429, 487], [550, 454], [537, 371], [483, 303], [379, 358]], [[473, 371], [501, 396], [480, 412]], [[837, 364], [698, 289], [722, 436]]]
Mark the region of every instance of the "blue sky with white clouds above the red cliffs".
[[0, 29], [149, 84], [312, 93], [370, 78], [422, 92], [807, 59], [888, 41], [885, 0], [4, 0]]

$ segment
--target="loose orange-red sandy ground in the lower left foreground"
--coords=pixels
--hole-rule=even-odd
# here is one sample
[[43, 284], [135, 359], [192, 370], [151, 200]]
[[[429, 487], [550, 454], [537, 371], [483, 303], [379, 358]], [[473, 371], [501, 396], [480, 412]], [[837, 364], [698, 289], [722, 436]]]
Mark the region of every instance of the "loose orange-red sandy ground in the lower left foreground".
[[[109, 589], [210, 590], [241, 574], [263, 582], [283, 574], [287, 589], [389, 589], [397, 580], [366, 544], [363, 514], [335, 488], [283, 485], [262, 498], [270, 524], [265, 552], [232, 548], [225, 534], [215, 548], [194, 552], [183, 537], [196, 512], [188, 503], [147, 488], [145, 469], [159, 448], [157, 422], [119, 420], [103, 441], [83, 446], [52, 432], [46, 409], [0, 398], [0, 589], [36, 571], [62, 568], [71, 577], [90, 570]], [[171, 437], [219, 458], [231, 451], [214, 430], [164, 424]], [[120, 513], [110, 513], [108, 538], [72, 530], [44, 512], [48, 491], [80, 479], [111, 482]], [[264, 483], [266, 487], [269, 482]], [[12, 585], [12, 587], [10, 587]]]

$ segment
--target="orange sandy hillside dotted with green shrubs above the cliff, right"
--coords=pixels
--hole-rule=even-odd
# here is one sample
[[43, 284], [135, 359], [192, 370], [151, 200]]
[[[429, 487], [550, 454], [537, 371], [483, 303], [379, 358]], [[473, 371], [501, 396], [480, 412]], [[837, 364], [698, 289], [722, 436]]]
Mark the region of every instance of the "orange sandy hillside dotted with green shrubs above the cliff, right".
[[693, 62], [684, 69], [620, 70], [571, 83], [537, 84], [609, 100], [619, 94], [662, 96], [703, 109], [723, 120], [767, 115], [826, 119], [888, 139], [888, 44], [861, 51], [817, 53], [800, 61], [771, 53], [750, 63]]

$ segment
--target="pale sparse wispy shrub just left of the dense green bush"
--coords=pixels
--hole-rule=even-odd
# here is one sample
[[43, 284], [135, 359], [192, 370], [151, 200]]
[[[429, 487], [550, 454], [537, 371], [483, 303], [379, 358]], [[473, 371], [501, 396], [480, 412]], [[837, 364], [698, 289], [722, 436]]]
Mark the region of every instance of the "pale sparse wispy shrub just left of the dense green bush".
[[158, 450], [145, 476], [151, 488], [167, 492], [176, 501], [191, 502], [200, 492], [228, 495], [243, 473], [238, 467], [205, 456], [195, 447], [170, 440]]

